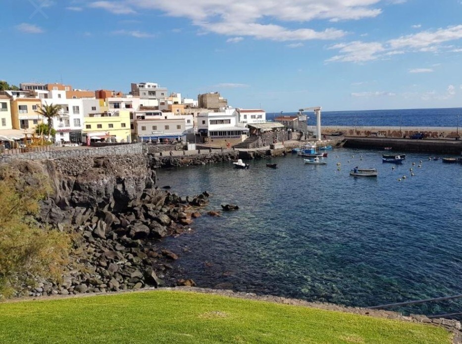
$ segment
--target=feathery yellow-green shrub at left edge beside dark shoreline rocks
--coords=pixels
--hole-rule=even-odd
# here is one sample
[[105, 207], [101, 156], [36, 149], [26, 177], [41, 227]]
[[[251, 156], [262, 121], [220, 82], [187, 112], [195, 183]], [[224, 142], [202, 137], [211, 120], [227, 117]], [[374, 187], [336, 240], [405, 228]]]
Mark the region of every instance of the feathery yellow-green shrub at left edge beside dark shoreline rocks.
[[37, 277], [59, 280], [67, 264], [70, 236], [34, 219], [47, 194], [44, 185], [44, 175], [0, 168], [0, 299], [34, 285]]

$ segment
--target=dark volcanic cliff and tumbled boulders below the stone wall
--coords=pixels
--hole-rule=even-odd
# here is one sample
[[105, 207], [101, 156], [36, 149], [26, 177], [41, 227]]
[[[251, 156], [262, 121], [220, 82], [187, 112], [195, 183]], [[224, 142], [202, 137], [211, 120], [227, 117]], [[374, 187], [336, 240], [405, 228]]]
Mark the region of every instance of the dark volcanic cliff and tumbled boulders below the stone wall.
[[191, 230], [208, 193], [179, 197], [156, 187], [143, 154], [12, 164], [23, 178], [49, 177], [52, 190], [38, 220], [79, 234], [62, 283], [39, 280], [30, 295], [176, 284], [169, 263], [178, 255], [163, 250], [159, 239]]

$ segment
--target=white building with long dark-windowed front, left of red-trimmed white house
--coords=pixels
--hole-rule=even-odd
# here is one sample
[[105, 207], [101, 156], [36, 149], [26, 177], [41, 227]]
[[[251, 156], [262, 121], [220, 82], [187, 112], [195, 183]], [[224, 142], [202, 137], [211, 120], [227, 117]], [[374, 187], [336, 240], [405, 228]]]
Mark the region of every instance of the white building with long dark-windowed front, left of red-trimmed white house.
[[249, 129], [237, 126], [238, 113], [235, 109], [223, 112], [199, 114], [198, 132], [211, 138], [236, 138], [247, 134]]

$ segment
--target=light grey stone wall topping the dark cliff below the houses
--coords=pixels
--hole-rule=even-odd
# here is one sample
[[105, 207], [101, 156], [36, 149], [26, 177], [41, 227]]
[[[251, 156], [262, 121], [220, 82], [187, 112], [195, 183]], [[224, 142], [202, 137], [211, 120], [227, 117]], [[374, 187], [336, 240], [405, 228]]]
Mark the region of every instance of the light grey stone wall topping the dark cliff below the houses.
[[11, 162], [14, 159], [42, 160], [42, 159], [62, 159], [62, 158], [87, 158], [105, 157], [118, 155], [144, 154], [145, 147], [142, 143], [129, 145], [109, 146], [100, 148], [79, 148], [79, 149], [60, 149], [46, 152], [33, 152], [17, 155], [2, 155], [0, 163]]

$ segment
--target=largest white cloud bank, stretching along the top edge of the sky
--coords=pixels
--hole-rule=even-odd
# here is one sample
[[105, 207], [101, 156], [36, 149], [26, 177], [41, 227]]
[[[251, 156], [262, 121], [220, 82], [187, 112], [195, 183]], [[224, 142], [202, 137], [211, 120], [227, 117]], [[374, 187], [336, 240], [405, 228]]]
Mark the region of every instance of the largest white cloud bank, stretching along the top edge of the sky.
[[[118, 0], [95, 1], [91, 7], [115, 14], [130, 14], [149, 9], [169, 16], [188, 18], [206, 32], [226, 36], [250, 36], [276, 41], [332, 40], [346, 35], [343, 30], [325, 28], [315, 31], [300, 27], [311, 20], [359, 20], [378, 16], [383, 0]], [[277, 22], [278, 25], [274, 24]], [[295, 22], [298, 29], [284, 23]]]

